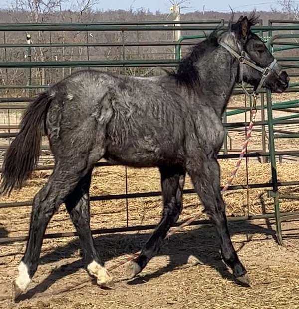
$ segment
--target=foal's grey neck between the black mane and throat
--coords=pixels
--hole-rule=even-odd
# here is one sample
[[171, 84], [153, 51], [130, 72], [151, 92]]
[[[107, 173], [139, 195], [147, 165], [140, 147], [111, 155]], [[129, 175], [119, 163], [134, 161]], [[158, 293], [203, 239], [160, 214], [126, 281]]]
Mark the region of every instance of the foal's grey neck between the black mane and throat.
[[215, 49], [198, 61], [200, 87], [203, 100], [212, 105], [219, 117], [222, 116], [232, 94], [238, 64], [223, 50]]

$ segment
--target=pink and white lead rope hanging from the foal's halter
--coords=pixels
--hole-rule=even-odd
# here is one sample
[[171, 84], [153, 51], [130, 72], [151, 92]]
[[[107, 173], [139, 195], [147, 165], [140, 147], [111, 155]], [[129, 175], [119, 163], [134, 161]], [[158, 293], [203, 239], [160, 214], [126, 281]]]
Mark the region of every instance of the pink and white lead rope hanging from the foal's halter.
[[[254, 122], [255, 122], [255, 117], [256, 117], [256, 114], [257, 114], [257, 110], [255, 108], [255, 105], [256, 105], [256, 97], [254, 98], [254, 104], [253, 104], [253, 108], [251, 110], [251, 121], [249, 123], [249, 126], [248, 126], [248, 129], [247, 129], [247, 134], [246, 134], [246, 140], [243, 144], [243, 148], [242, 148], [242, 151], [240, 152], [240, 155], [239, 155], [239, 159], [235, 165], [235, 168], [234, 170], [232, 171], [231, 175], [230, 175], [230, 178], [228, 179], [226, 185], [222, 188], [221, 192], [225, 192], [229, 186], [231, 185], [232, 181], [234, 180], [236, 174], [237, 174], [237, 171], [241, 165], [241, 162], [242, 162], [242, 159], [244, 157], [244, 154], [246, 153], [246, 149], [247, 149], [247, 146], [248, 146], [248, 143], [250, 141], [250, 138], [251, 138], [251, 133], [252, 133], [252, 129], [253, 129], [253, 125], [254, 125]], [[169, 231], [165, 237], [165, 239], [168, 239], [170, 236], [172, 236], [173, 234], [179, 232], [181, 229], [183, 229], [185, 226], [187, 225], [190, 225], [193, 221], [199, 219], [201, 216], [201, 213], [197, 214], [196, 216], [186, 220], [185, 222], [183, 222], [181, 225], [179, 225], [178, 227], [175, 227], [173, 228], [171, 231]], [[124, 259], [123, 261], [117, 263], [116, 265], [113, 265], [112, 267], [110, 267], [108, 269], [108, 271], [111, 271], [111, 270], [114, 270], [116, 268], [118, 268], [119, 266], [127, 263], [127, 262], [130, 262], [134, 259], [136, 259], [138, 257], [138, 255], [140, 254], [141, 251], [138, 251], [132, 255], [130, 255], [128, 258]]]

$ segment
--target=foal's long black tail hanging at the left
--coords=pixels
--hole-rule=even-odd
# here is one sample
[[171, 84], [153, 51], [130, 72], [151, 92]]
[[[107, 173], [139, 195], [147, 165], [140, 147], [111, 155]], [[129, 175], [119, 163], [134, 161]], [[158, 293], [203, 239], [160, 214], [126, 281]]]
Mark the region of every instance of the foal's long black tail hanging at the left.
[[[20, 123], [20, 132], [8, 148], [4, 158], [0, 194], [22, 187], [40, 154], [42, 124], [52, 101], [48, 92], [41, 93], [26, 109]], [[46, 129], [46, 128], [45, 128]]]

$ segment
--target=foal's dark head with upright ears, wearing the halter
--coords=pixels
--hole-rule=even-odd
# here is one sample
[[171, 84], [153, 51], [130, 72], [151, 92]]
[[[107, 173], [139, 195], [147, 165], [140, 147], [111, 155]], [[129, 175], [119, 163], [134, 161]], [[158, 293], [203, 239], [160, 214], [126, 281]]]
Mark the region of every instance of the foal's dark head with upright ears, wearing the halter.
[[248, 18], [241, 16], [236, 23], [230, 23], [229, 30], [219, 36], [218, 42], [239, 61], [237, 82], [249, 83], [256, 92], [265, 87], [281, 93], [288, 88], [289, 76], [263, 41], [250, 30], [256, 23], [254, 14]]

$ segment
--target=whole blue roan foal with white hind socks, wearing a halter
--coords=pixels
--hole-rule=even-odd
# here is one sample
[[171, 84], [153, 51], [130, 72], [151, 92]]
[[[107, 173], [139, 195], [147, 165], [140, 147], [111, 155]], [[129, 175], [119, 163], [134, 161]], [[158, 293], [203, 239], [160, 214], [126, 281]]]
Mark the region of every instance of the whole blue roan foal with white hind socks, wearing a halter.
[[88, 272], [100, 286], [113, 286], [89, 225], [91, 175], [102, 158], [133, 167], [156, 166], [161, 173], [162, 218], [130, 263], [130, 277], [159, 251], [178, 219], [187, 172], [216, 228], [223, 260], [239, 281], [248, 282], [228, 232], [216, 157], [224, 137], [221, 116], [236, 83], [274, 92], [288, 87], [287, 73], [250, 30], [256, 20], [251, 14], [231, 22], [228, 30], [214, 31], [181, 60], [177, 72], [139, 78], [80, 71], [29, 105], [5, 157], [1, 192], [21, 187], [30, 176], [40, 154], [42, 126], [55, 168], [34, 197], [15, 297], [26, 290], [37, 269], [47, 224], [61, 203], [77, 229]]

